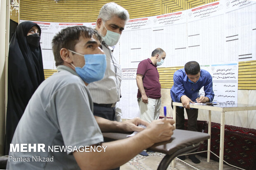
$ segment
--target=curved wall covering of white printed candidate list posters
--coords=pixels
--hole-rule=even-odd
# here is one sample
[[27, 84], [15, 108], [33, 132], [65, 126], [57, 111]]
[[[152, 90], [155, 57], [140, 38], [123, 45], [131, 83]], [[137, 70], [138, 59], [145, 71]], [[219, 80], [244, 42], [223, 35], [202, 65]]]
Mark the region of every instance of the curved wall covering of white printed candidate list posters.
[[[44, 69], [56, 69], [51, 50], [56, 33], [69, 26], [95, 28], [95, 23], [33, 22], [42, 29]], [[123, 110], [134, 107], [123, 118], [138, 116], [134, 69], [157, 47], [166, 51], [160, 67], [197, 61], [213, 76], [214, 100], [237, 102], [237, 62], [256, 60], [256, 1], [219, 0], [181, 12], [130, 19], [114, 48], [114, 56], [126, 70], [119, 105]]]

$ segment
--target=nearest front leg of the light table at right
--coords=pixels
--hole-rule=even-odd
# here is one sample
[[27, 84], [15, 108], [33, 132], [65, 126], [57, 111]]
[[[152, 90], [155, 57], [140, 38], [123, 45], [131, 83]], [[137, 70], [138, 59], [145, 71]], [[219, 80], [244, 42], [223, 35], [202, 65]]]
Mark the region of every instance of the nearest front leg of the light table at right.
[[224, 130], [225, 130], [225, 112], [221, 112], [221, 120], [220, 120], [220, 162], [219, 162], [219, 170], [223, 170]]

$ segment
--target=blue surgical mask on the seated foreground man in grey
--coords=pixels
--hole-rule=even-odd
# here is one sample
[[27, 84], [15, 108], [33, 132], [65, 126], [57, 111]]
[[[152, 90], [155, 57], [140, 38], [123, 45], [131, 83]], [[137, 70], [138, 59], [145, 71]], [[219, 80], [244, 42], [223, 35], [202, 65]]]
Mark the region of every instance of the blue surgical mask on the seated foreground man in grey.
[[[69, 50], [71, 51], [71, 50]], [[79, 54], [74, 51], [71, 51], [75, 54], [84, 56], [85, 58], [85, 65], [83, 68], [75, 67], [76, 73], [83, 79], [86, 83], [96, 82], [98, 80], [101, 80], [106, 71], [107, 67], [107, 61], [106, 61], [106, 55], [105, 54]]]

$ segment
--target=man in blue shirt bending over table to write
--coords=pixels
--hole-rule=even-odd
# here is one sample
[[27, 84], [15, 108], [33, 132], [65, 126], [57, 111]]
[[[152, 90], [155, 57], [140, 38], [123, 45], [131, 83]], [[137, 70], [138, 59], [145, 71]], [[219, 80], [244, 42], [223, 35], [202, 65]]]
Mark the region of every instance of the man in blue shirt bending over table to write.
[[[182, 102], [187, 112], [187, 130], [197, 131], [198, 109], [190, 109], [190, 102], [205, 103], [211, 102], [214, 98], [213, 83], [210, 73], [206, 70], [200, 70], [200, 65], [196, 61], [190, 61], [185, 64], [183, 69], [177, 70], [173, 75], [173, 87], [171, 88], [171, 106], [173, 102]], [[199, 95], [199, 90], [204, 86], [204, 96]], [[176, 107], [176, 128], [184, 129], [184, 108]], [[185, 160], [185, 156], [179, 156]], [[194, 163], [200, 161], [194, 156], [189, 158]]]

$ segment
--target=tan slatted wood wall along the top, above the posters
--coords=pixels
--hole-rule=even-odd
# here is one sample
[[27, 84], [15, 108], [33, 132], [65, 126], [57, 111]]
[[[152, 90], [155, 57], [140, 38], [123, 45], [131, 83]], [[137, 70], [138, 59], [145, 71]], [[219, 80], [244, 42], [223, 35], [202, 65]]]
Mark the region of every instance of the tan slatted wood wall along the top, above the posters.
[[[95, 22], [102, 5], [116, 2], [130, 18], [182, 11], [216, 0], [19, 0], [20, 19], [48, 22]], [[13, 12], [11, 19], [18, 22]]]

